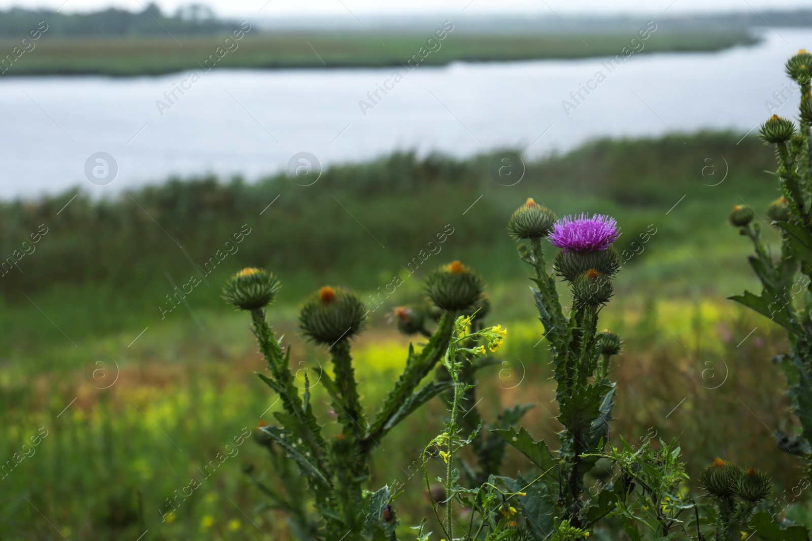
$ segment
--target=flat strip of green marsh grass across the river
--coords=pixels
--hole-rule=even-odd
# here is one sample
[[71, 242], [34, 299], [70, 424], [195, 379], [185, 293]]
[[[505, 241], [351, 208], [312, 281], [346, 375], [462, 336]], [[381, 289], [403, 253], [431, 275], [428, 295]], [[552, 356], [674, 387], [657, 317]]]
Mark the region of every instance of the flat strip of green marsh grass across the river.
[[[240, 41], [224, 44], [225, 36], [131, 38], [64, 38], [45, 34], [36, 48], [24, 53], [5, 72], [10, 75], [158, 75], [205, 69], [218, 47], [231, 49], [209, 61], [209, 66], [231, 68], [291, 67], [401, 67], [419, 54], [431, 33], [274, 32], [253, 29]], [[434, 52], [419, 62], [441, 66], [449, 62], [503, 62], [542, 58], [615, 56], [629, 45], [634, 32], [559, 34], [448, 33]], [[581, 40], [583, 38], [583, 41]], [[641, 53], [715, 51], [752, 44], [740, 30], [722, 32], [666, 32], [659, 30], [643, 42]], [[181, 45], [182, 44], [182, 45]], [[589, 44], [589, 45], [586, 45]], [[0, 52], [18, 45], [0, 41]], [[636, 45], [639, 48], [640, 45]], [[235, 49], [236, 47], [236, 49]], [[221, 49], [221, 50], [222, 50]], [[428, 47], [426, 47], [428, 49]], [[420, 58], [420, 57], [418, 57]], [[217, 60], [217, 62], [214, 62]], [[415, 62], [412, 62], [414, 65]]]

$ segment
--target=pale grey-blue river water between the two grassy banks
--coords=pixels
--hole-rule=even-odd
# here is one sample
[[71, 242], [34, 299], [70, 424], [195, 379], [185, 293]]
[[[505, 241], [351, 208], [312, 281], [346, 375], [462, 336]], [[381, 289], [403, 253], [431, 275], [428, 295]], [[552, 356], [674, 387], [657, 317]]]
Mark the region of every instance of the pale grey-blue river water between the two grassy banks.
[[[799, 92], [784, 61], [812, 49], [809, 29], [764, 36], [751, 47], [635, 53], [615, 65], [608, 58], [458, 62], [399, 68], [396, 78], [392, 68], [0, 76], [0, 197], [77, 184], [109, 195], [171, 175], [254, 179], [285, 170], [299, 152], [323, 167], [395, 150], [464, 157], [520, 148], [539, 157], [606, 135], [744, 133], [768, 109], [794, 114]], [[592, 90], [572, 98], [581, 84]], [[389, 90], [376, 97], [378, 85]], [[308, 160], [295, 161], [315, 164]]]

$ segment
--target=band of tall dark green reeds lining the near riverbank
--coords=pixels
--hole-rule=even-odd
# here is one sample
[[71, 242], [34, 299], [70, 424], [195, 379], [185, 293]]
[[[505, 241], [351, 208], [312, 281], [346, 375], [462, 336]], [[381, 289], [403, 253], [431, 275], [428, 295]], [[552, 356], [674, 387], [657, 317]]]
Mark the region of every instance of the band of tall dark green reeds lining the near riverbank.
[[[465, 251], [501, 264], [488, 252], [513, 250], [505, 217], [527, 197], [559, 214], [650, 208], [662, 217], [686, 194], [693, 194], [689, 201], [726, 198], [731, 206], [738, 195], [764, 195], [763, 171], [773, 166], [772, 152], [754, 137], [736, 144], [738, 139], [702, 133], [681, 140], [598, 140], [528, 163], [524, 178], [510, 187], [491, 176], [492, 155], [457, 160], [399, 153], [330, 167], [309, 187], [286, 174], [257, 183], [175, 178], [110, 200], [76, 188], [2, 202], [0, 292], [12, 298], [52, 286], [106, 283], [137, 295], [149, 284], [166, 286], [170, 277], [181, 284], [195, 274], [207, 279], [248, 264], [287, 275], [288, 288], [313, 276], [385, 284], [391, 276], [378, 276], [382, 268], [403, 268], [448, 224], [454, 233], [443, 260]], [[585, 207], [585, 201], [591, 202]], [[630, 223], [633, 215], [639, 213], [618, 213], [629, 240], [649, 223]], [[685, 224], [673, 223], [673, 235], [683, 234]], [[657, 226], [658, 238], [667, 237], [667, 226]], [[226, 245], [237, 237], [242, 242], [236, 248]], [[442, 262], [434, 260], [426, 266]], [[516, 266], [513, 258], [504, 260]]]

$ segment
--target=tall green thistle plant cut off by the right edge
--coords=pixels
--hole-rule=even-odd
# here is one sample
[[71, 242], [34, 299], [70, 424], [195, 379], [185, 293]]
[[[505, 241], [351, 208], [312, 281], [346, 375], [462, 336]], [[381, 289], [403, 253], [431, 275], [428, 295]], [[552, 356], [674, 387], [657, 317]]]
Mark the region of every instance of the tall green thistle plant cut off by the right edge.
[[[800, 433], [786, 436], [780, 448], [806, 459], [812, 468], [812, 55], [801, 50], [790, 58], [787, 74], [801, 84], [800, 122], [773, 115], [764, 123], [762, 140], [775, 144], [778, 158], [776, 176], [782, 196], [767, 208], [773, 226], [780, 231], [780, 254], [773, 255], [762, 241], [756, 223], [734, 222], [740, 233], [753, 242], [755, 254], [749, 263], [762, 284], [760, 294], [745, 291], [731, 297], [762, 316], [767, 316], [788, 333], [790, 351], [781, 355], [780, 366], [788, 381], [793, 413], [800, 421]], [[798, 277], [800, 271], [801, 277]], [[808, 474], [810, 476], [810, 474]]]

